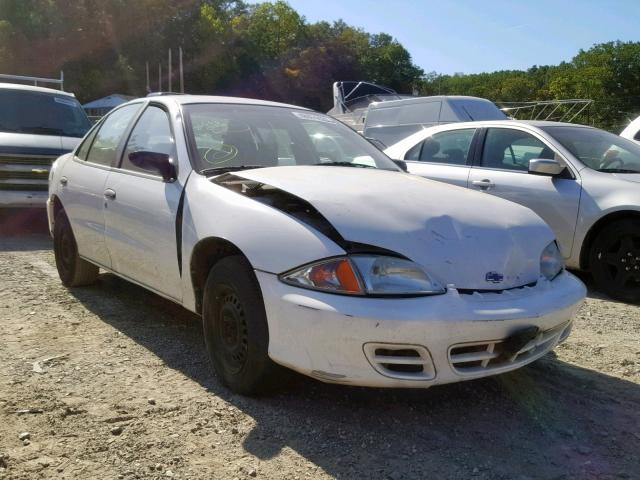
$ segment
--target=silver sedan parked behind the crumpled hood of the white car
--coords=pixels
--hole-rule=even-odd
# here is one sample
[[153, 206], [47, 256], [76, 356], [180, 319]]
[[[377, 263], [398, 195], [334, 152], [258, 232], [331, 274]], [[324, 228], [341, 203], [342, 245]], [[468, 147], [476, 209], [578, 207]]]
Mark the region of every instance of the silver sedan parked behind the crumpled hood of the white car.
[[531, 208], [567, 265], [614, 298], [640, 300], [640, 146], [556, 122], [469, 122], [425, 129], [385, 150], [411, 173]]

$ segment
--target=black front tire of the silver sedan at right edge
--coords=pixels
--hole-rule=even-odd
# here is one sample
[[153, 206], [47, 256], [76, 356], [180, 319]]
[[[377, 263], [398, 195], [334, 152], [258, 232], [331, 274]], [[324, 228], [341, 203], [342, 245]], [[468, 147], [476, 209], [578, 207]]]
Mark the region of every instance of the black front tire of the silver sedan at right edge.
[[591, 246], [589, 265], [599, 290], [625, 302], [640, 301], [640, 222], [606, 226]]

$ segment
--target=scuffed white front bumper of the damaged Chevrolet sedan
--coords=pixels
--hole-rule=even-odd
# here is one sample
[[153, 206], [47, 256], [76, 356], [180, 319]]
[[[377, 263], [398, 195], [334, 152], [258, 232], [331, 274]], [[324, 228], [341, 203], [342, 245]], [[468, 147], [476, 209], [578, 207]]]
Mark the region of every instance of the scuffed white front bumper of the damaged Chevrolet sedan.
[[[586, 295], [568, 272], [502, 293], [449, 289], [402, 299], [332, 295], [256, 275], [275, 362], [322, 381], [371, 387], [425, 388], [519, 368], [568, 336]], [[539, 333], [519, 353], [501, 350], [526, 327]]]

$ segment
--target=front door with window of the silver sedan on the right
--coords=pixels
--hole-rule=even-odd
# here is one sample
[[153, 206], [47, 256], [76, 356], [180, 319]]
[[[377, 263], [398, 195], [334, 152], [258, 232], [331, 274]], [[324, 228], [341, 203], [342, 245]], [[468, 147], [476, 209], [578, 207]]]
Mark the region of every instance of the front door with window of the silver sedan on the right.
[[520, 129], [486, 129], [479, 162], [469, 174], [469, 188], [529, 207], [549, 224], [565, 258], [571, 255], [582, 186], [567, 166], [559, 176], [529, 173], [529, 160], [567, 162], [540, 135]]

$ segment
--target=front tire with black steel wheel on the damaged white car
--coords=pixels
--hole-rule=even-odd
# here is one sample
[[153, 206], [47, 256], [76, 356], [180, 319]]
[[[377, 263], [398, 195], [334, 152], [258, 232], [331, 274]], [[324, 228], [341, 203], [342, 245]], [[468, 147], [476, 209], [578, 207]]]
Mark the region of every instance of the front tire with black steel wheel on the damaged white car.
[[286, 371], [269, 358], [262, 293], [243, 256], [223, 258], [209, 272], [202, 318], [211, 363], [225, 386], [256, 395], [282, 385]]

